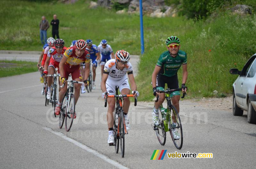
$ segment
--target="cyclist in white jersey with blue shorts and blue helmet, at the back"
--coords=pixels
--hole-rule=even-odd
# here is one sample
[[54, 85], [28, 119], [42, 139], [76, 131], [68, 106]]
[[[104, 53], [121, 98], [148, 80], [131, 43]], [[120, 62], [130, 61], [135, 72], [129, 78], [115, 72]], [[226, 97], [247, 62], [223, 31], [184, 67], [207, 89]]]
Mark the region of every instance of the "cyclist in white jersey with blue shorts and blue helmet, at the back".
[[[98, 51], [101, 55], [100, 65], [101, 65], [101, 77], [103, 74], [104, 65], [110, 59], [114, 59], [114, 53], [110, 45], [108, 45], [108, 41], [103, 39], [98, 46]], [[110, 57], [111, 55], [111, 57]]]

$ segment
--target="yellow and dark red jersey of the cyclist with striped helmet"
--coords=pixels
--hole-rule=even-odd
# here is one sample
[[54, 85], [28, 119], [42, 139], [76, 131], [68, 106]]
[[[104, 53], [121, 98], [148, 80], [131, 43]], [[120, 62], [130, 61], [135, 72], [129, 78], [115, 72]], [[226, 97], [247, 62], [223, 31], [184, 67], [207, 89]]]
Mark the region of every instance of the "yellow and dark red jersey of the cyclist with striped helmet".
[[65, 53], [64, 57], [68, 58], [66, 64], [69, 64], [70, 66], [72, 65], [80, 65], [81, 63], [89, 63], [90, 62], [90, 53], [85, 50], [84, 54], [81, 57], [76, 56], [76, 47], [72, 46], [69, 47]]

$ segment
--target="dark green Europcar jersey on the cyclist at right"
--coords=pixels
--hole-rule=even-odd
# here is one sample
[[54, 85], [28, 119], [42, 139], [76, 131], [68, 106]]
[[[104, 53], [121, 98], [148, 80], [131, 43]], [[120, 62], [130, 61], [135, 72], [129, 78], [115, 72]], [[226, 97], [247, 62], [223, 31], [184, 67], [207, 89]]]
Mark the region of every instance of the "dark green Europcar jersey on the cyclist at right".
[[180, 66], [185, 64], [187, 64], [186, 52], [179, 50], [178, 55], [173, 58], [167, 50], [160, 55], [156, 65], [161, 67], [160, 74], [172, 77], [177, 74]]

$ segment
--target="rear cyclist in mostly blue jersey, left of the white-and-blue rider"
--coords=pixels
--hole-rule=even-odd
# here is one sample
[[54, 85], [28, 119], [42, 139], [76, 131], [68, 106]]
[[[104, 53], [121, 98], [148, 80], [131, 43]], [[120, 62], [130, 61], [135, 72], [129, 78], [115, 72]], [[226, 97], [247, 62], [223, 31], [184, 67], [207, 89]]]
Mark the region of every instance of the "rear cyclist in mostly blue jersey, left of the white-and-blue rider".
[[[87, 46], [86, 50], [90, 53], [91, 59], [92, 59], [92, 89], [95, 89], [95, 77], [96, 77], [96, 68], [97, 68], [97, 62], [100, 59], [100, 53], [98, 51], [98, 48], [95, 44], [92, 44], [91, 39], [86, 40]], [[84, 71], [85, 69], [83, 69]]]

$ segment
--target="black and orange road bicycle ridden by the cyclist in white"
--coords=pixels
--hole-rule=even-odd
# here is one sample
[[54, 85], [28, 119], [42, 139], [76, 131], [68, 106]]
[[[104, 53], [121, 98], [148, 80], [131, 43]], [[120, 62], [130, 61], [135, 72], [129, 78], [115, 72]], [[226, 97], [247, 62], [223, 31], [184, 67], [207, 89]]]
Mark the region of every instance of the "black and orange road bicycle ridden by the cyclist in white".
[[[124, 100], [124, 97], [133, 97], [133, 95], [118, 95], [118, 86], [116, 86], [116, 95], [107, 95], [106, 93], [105, 107], [107, 107], [108, 97], [116, 98], [116, 108], [114, 113], [115, 121], [114, 121], [114, 127], [113, 127], [115, 143], [110, 143], [109, 146], [115, 146], [116, 153], [118, 153], [119, 140], [120, 140], [121, 156], [124, 157], [124, 135], [128, 134], [128, 132], [126, 131], [126, 126], [124, 121], [124, 111], [122, 106], [122, 100]], [[134, 98], [134, 106], [136, 105], [137, 105], [137, 97]]]

